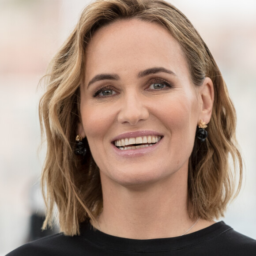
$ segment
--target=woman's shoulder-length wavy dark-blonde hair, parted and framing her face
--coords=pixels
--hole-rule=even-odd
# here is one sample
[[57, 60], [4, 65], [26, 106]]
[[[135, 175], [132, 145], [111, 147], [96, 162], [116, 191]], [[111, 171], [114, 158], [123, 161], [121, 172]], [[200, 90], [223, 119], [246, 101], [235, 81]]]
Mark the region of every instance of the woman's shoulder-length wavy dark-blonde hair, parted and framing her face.
[[[188, 165], [188, 213], [212, 220], [224, 215], [241, 188], [242, 159], [236, 143], [236, 113], [222, 74], [207, 45], [187, 17], [163, 0], [97, 0], [84, 8], [75, 29], [49, 64], [41, 80], [46, 92], [39, 103], [47, 154], [42, 190], [47, 207], [43, 228], [79, 234], [79, 223], [94, 225], [102, 211], [99, 169], [87, 145], [87, 155], [74, 154], [81, 121], [79, 87], [84, 80], [86, 49], [94, 32], [121, 19], [139, 19], [166, 28], [181, 45], [195, 87], [205, 77], [214, 84], [215, 98], [205, 143], [195, 138]], [[55, 209], [57, 211], [55, 211]]]

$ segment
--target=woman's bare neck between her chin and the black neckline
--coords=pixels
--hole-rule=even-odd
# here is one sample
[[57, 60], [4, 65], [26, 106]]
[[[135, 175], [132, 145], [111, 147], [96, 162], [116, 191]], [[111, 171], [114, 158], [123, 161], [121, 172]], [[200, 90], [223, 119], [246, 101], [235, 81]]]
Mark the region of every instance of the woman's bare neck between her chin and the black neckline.
[[102, 232], [133, 239], [183, 234], [193, 224], [187, 209], [187, 173], [179, 170], [143, 186], [123, 186], [101, 173], [103, 211], [98, 225]]

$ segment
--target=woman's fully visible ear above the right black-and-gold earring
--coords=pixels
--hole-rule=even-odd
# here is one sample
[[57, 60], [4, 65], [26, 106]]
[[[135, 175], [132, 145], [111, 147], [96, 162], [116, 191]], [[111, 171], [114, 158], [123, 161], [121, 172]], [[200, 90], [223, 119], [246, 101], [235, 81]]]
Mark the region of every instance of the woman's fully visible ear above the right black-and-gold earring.
[[199, 97], [201, 101], [199, 120], [202, 119], [203, 122], [208, 124], [211, 119], [214, 102], [214, 88], [211, 79], [206, 77], [199, 88]]

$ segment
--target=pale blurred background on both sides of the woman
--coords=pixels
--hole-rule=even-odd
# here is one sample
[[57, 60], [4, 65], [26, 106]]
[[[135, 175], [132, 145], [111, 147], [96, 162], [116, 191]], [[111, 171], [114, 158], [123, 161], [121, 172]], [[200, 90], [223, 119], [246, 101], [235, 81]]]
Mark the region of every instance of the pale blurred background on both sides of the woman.
[[[170, 2], [206, 41], [237, 109], [245, 182], [223, 220], [256, 239], [256, 0]], [[88, 3], [0, 0], [0, 256], [30, 240], [31, 216], [44, 211], [38, 82]]]

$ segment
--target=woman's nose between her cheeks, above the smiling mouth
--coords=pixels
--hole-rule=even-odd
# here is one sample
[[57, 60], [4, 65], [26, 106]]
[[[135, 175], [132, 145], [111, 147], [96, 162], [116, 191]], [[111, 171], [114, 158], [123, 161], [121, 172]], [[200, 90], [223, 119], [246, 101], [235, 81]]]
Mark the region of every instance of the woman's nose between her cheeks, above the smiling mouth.
[[140, 120], [147, 120], [149, 111], [143, 96], [139, 97], [136, 93], [129, 93], [124, 96], [118, 114], [120, 124], [136, 125]]

